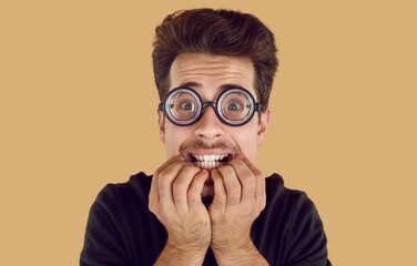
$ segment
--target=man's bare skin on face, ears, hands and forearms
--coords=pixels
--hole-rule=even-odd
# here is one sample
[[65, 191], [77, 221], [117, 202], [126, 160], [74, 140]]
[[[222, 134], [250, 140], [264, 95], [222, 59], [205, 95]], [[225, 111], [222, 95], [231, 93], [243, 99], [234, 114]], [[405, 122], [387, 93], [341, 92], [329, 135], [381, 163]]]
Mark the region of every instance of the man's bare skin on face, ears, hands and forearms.
[[[170, 71], [170, 90], [187, 84], [203, 101], [215, 102], [227, 86], [256, 95], [251, 60], [237, 57], [182, 53]], [[212, 108], [189, 126], [172, 124], [159, 111], [160, 137], [169, 158], [154, 173], [150, 209], [167, 231], [155, 265], [201, 265], [208, 246], [218, 265], [267, 265], [250, 232], [265, 207], [265, 177], [254, 165], [265, 141], [269, 110], [245, 125], [222, 123]], [[190, 154], [232, 154], [217, 168], [202, 170]], [[208, 209], [202, 197], [213, 198]]]

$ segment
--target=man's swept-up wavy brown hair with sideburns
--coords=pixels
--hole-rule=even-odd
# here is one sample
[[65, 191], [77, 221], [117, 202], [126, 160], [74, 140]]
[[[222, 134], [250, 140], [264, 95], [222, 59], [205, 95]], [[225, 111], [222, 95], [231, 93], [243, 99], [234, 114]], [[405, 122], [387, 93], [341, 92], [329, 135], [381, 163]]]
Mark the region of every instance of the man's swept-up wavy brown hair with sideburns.
[[155, 29], [153, 71], [160, 100], [170, 90], [170, 70], [180, 53], [245, 57], [252, 60], [254, 88], [265, 111], [278, 65], [274, 34], [254, 16], [232, 10], [181, 10]]

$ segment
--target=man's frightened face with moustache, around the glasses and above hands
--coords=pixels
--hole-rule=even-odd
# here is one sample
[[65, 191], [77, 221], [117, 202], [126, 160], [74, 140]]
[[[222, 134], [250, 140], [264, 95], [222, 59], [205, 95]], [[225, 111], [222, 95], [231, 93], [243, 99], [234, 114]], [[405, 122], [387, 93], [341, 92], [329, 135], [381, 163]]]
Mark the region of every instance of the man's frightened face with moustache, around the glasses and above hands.
[[[255, 71], [247, 58], [182, 53], [174, 60], [170, 78], [170, 90], [177, 86], [194, 89], [203, 102], [216, 102], [218, 94], [231, 86], [245, 88], [256, 99]], [[261, 115], [261, 123], [255, 114], [244, 125], [230, 126], [222, 123], [215, 110], [208, 106], [196, 123], [177, 126], [159, 111], [160, 136], [165, 144], [166, 157], [181, 154], [197, 165], [201, 155], [218, 155], [216, 163], [213, 163], [211, 156], [206, 157], [206, 162], [200, 162], [199, 165], [204, 165], [202, 167], [208, 171], [215, 167], [214, 165], [227, 163], [240, 153], [254, 163], [256, 147], [265, 140], [268, 121], [269, 110], [266, 110]], [[205, 182], [202, 195], [213, 196], [213, 183], [210, 177]]]

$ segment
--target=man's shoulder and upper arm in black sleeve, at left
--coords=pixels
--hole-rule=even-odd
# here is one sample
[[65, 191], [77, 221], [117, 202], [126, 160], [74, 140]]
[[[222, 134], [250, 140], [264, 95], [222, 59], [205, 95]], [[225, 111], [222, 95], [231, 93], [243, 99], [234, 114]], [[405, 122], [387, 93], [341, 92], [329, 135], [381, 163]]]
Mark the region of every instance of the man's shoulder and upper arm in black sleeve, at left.
[[151, 176], [139, 173], [104, 186], [90, 208], [80, 265], [136, 265], [148, 252], [143, 243], [163, 244], [163, 227], [148, 208], [150, 184]]

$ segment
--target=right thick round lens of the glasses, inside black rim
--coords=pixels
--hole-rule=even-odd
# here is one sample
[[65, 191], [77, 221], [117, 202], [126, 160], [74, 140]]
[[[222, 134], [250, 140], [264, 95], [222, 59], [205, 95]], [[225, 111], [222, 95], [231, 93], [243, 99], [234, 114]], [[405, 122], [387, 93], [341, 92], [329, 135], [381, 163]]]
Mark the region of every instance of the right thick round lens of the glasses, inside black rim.
[[226, 93], [220, 104], [222, 116], [232, 124], [244, 123], [253, 112], [251, 98], [241, 90]]

